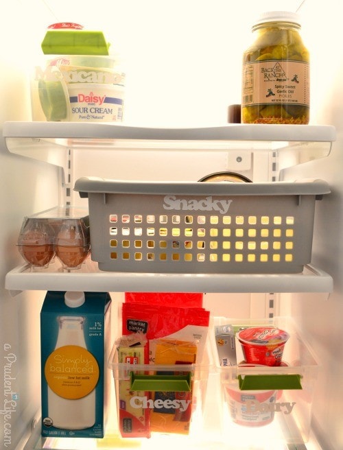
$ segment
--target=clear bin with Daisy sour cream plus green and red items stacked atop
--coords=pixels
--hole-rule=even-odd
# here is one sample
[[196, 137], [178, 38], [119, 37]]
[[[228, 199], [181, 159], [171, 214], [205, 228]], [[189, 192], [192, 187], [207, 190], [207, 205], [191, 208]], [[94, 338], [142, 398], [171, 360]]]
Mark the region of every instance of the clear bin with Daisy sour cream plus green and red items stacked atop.
[[50, 25], [31, 83], [34, 121], [121, 122], [126, 74], [102, 31]]

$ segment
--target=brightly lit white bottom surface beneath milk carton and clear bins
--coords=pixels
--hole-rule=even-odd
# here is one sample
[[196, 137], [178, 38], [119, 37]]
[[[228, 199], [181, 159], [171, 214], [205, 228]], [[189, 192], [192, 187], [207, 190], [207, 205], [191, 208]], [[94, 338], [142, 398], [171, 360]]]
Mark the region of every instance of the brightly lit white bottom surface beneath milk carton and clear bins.
[[[211, 376], [209, 384], [211, 386]], [[189, 450], [323, 450], [313, 436], [311, 436], [309, 442], [303, 442], [292, 418], [285, 421], [284, 416], [280, 416], [280, 418], [276, 418], [272, 423], [263, 427], [241, 427], [230, 421], [227, 410], [225, 410], [222, 418], [218, 418], [219, 408], [215, 404], [216, 396], [209, 395], [209, 398], [211, 404], [206, 405], [208, 411], [206, 427], [202, 427], [199, 432], [192, 436], [166, 434], [154, 436], [150, 439], [124, 439], [120, 437], [117, 429], [108, 426], [106, 436], [103, 439], [43, 438], [40, 436], [40, 426], [37, 426], [23, 450], [113, 450], [118, 448], [132, 450], [175, 450], [184, 448]], [[227, 423], [224, 433], [218, 431], [218, 420]], [[292, 436], [292, 440], [296, 440], [296, 444], [286, 442], [291, 440], [290, 436]]]

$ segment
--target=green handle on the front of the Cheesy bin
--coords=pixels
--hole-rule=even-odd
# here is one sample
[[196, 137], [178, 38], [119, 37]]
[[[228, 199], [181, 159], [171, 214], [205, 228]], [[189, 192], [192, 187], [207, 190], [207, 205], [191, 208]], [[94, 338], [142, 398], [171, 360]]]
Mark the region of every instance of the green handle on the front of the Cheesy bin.
[[132, 391], [190, 392], [191, 372], [185, 375], [137, 375], [130, 372], [130, 387]]

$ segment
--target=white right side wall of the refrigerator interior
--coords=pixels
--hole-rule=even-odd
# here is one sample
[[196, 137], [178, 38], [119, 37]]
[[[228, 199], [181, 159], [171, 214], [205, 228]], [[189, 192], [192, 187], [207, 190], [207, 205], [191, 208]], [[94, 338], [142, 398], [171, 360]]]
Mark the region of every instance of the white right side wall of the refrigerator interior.
[[[300, 324], [318, 353], [323, 370], [314, 401], [314, 429], [324, 450], [343, 448], [341, 403], [343, 400], [343, 53], [335, 43], [342, 40], [342, 5], [325, 2], [316, 9], [305, 1], [301, 11], [307, 18], [307, 41], [311, 49], [311, 93], [314, 108], [311, 123], [333, 125], [337, 140], [331, 154], [286, 171], [285, 179], [322, 178], [331, 186], [331, 195], [316, 205], [313, 263], [333, 276], [334, 292], [327, 301], [312, 295], [292, 297], [292, 316]], [[304, 29], [305, 31], [305, 29]]]

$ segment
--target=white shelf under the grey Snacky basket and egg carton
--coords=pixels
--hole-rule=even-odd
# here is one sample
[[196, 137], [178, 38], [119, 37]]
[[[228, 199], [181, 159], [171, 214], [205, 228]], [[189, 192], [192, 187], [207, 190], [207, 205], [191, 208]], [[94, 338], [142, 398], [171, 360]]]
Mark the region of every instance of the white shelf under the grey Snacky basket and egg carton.
[[306, 265], [299, 274], [156, 274], [103, 272], [87, 259], [79, 270], [62, 269], [58, 261], [33, 270], [20, 265], [6, 275], [14, 296], [24, 290], [87, 292], [332, 292], [332, 277]]

